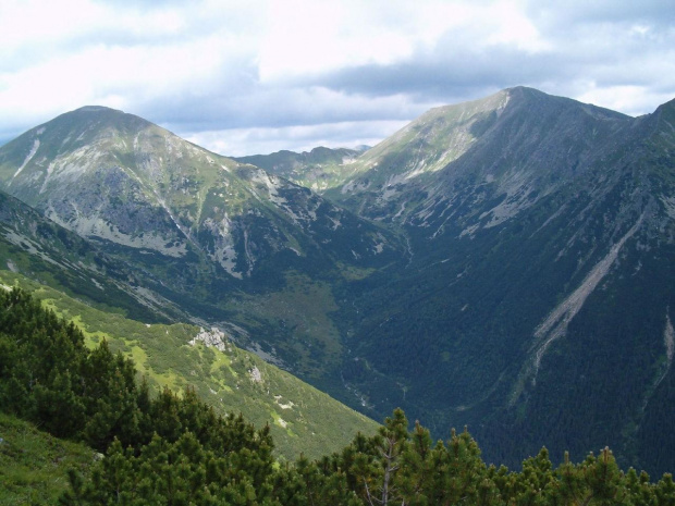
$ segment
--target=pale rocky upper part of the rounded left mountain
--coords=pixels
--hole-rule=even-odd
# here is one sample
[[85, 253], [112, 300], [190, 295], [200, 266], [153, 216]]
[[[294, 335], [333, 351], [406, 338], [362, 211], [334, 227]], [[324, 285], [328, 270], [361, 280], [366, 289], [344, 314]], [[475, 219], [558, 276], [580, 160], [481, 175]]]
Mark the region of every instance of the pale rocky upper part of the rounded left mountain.
[[[63, 132], [69, 125], [77, 124], [82, 115], [87, 118], [86, 124], [77, 132]], [[89, 135], [86, 140], [81, 139], [82, 146], [73, 145], [88, 132], [94, 132], [91, 135], [96, 137]], [[128, 146], [132, 141], [125, 137], [130, 134], [133, 134], [133, 146]], [[51, 146], [54, 136], [61, 141], [59, 147]], [[45, 153], [46, 144], [51, 152]], [[87, 147], [83, 148], [85, 144]], [[63, 155], [73, 149], [73, 155]], [[41, 209], [52, 221], [77, 230], [81, 235], [113, 239], [118, 244], [126, 242], [127, 246], [146, 247], [172, 257], [183, 257], [195, 246], [195, 252], [206, 252], [230, 275], [240, 279], [244, 273], [250, 274], [255, 254], [247, 249], [242, 259], [232, 244], [231, 229], [236, 225], [233, 223], [236, 217], [254, 209], [254, 214], [272, 210], [279, 217], [274, 218], [278, 225], [302, 220], [327, 232], [338, 230], [335, 223], [344, 218], [342, 211], [284, 180], [210, 153], [145, 120], [107, 108], [86, 107], [33, 128], [3, 148], [0, 166], [11, 165], [12, 161], [15, 164], [19, 158], [23, 161], [15, 172], [5, 170], [0, 175], [5, 190]], [[44, 168], [45, 164], [48, 166]], [[93, 181], [85, 183], [82, 177]], [[99, 193], [91, 194], [90, 185], [98, 185]], [[79, 195], [83, 187], [85, 194]], [[60, 195], [54, 196], [54, 192]], [[103, 195], [108, 201], [100, 198], [101, 192], [108, 192], [109, 195]], [[292, 200], [284, 197], [287, 194], [292, 194]], [[306, 196], [304, 201], [303, 196]], [[222, 209], [214, 213], [211, 210], [211, 206], [218, 208], [218, 198], [225, 198], [224, 214]], [[251, 207], [248, 203], [251, 198], [263, 206]], [[131, 209], [124, 206], [120, 209], [118, 200], [126, 203], [126, 208], [132, 206]], [[315, 219], [318, 209], [331, 213], [330, 229]], [[130, 213], [142, 213], [140, 220], [130, 222]], [[150, 226], [137, 229], [138, 224]], [[164, 235], [154, 236], [158, 230]], [[218, 243], [210, 248], [199, 239], [209, 233]], [[277, 233], [282, 234], [282, 242], [271, 246], [293, 250], [287, 246], [287, 237], [284, 245], [283, 231]]]

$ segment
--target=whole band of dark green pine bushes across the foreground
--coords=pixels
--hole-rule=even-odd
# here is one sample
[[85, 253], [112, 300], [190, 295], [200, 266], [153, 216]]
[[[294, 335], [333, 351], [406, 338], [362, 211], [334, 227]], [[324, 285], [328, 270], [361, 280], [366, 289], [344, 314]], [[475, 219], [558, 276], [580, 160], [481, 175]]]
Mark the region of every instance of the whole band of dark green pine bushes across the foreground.
[[609, 448], [557, 465], [542, 448], [508, 470], [466, 429], [434, 442], [401, 409], [341, 452], [280, 462], [269, 428], [189, 388], [151, 392], [106, 342], [89, 349], [29, 294], [0, 292], [0, 411], [105, 454], [69, 471], [62, 505], [675, 505], [671, 474], [621, 470]]

